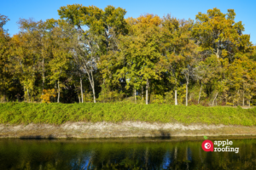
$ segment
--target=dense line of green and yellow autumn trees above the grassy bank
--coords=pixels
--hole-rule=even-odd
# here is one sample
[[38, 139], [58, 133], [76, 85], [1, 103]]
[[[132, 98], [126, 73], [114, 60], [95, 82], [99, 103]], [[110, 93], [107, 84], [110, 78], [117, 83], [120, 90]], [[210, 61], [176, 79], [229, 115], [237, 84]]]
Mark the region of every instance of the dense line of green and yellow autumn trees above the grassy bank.
[[253, 105], [256, 47], [233, 9], [195, 20], [79, 4], [58, 14], [20, 19], [13, 37], [0, 14], [0, 102]]

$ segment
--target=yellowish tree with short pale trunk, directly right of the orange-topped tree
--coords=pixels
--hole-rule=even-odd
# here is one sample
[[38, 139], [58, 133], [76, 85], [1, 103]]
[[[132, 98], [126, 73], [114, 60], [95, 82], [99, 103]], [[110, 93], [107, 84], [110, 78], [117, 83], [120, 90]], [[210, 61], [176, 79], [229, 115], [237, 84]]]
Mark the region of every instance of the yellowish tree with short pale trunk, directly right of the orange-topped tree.
[[[163, 60], [161, 65], [169, 72], [170, 81], [174, 84], [175, 105], [177, 105], [177, 86], [181, 84], [183, 67], [186, 65], [187, 76], [192, 69], [189, 66], [195, 62], [194, 42], [191, 40], [191, 28], [193, 26], [192, 20], [177, 20], [167, 14], [163, 20]], [[191, 62], [191, 63], [190, 63]], [[193, 69], [192, 69], [193, 70]], [[187, 86], [189, 85], [189, 77], [187, 77]]]

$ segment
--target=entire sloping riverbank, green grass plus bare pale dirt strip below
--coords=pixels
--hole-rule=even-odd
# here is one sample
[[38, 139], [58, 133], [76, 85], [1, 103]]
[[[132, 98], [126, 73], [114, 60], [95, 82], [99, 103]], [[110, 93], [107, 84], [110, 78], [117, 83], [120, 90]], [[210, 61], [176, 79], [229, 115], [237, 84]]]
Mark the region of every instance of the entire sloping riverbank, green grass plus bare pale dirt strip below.
[[0, 104], [0, 138], [256, 135], [256, 108], [200, 105]]

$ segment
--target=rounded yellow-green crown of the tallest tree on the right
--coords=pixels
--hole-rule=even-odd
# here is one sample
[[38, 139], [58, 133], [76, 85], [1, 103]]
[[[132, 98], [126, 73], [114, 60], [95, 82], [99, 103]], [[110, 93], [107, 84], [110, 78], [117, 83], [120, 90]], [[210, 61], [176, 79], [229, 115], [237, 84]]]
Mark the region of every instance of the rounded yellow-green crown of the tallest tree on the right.
[[250, 51], [250, 36], [242, 34], [244, 26], [241, 21], [235, 22], [235, 17], [234, 9], [228, 9], [227, 14], [221, 13], [218, 8], [207, 10], [207, 14], [198, 13], [195, 16], [193, 36], [201, 51], [215, 54], [217, 59], [227, 57], [230, 62], [236, 53]]

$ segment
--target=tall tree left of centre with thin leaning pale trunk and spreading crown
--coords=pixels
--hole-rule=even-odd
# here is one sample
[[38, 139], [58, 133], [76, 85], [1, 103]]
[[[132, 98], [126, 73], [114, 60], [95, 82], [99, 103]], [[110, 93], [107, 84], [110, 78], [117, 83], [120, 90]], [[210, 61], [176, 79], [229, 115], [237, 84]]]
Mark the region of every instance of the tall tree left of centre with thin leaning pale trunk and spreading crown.
[[[113, 35], [124, 31], [126, 11], [122, 8], [113, 8], [113, 6], [108, 6], [103, 11], [94, 6], [84, 7], [74, 4], [61, 7], [58, 12], [61, 19], [66, 19], [69, 24], [76, 26], [83, 34], [80, 43], [84, 43], [83, 47], [86, 48], [84, 51], [87, 55], [80, 55], [82, 58], [79, 60], [83, 62], [83, 70], [90, 80], [94, 102], [96, 103], [93, 77], [93, 72], [96, 71], [96, 62], [100, 54], [108, 52]], [[89, 29], [83, 29], [84, 26]]]

